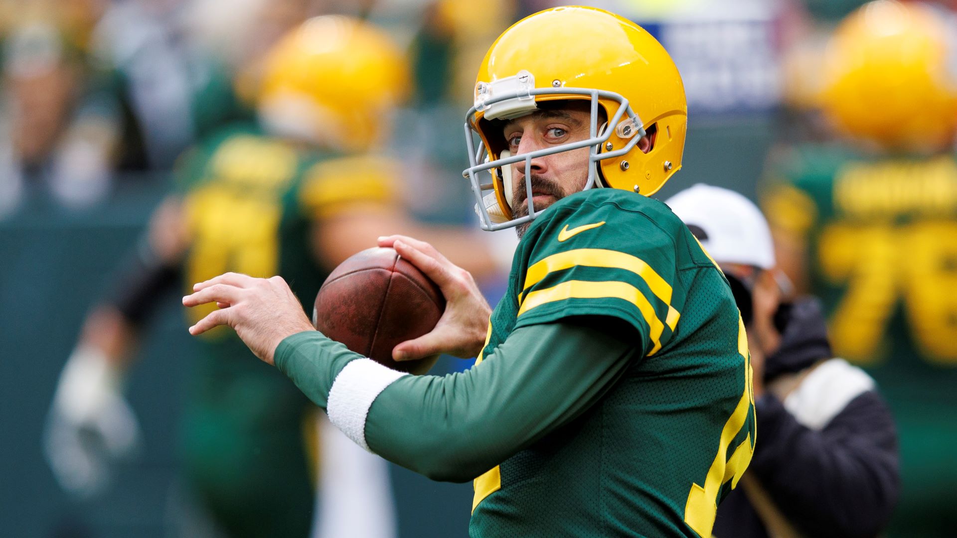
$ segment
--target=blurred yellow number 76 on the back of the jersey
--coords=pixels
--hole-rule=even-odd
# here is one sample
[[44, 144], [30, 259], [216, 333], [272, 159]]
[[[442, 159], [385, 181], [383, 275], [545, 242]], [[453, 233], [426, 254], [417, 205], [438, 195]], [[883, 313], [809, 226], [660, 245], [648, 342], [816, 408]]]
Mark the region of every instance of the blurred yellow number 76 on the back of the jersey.
[[830, 326], [838, 355], [878, 361], [888, 319], [903, 301], [927, 359], [957, 365], [957, 222], [832, 224], [821, 235], [818, 259], [827, 280], [847, 286]]

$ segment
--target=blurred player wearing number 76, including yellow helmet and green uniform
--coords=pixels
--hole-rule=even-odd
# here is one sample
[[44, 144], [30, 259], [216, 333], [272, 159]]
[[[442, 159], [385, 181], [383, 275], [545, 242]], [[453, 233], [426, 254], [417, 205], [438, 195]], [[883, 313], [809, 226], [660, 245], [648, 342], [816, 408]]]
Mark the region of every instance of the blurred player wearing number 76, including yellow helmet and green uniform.
[[837, 140], [780, 149], [765, 186], [782, 269], [822, 298], [835, 354], [874, 376], [897, 420], [895, 536], [957, 525], [955, 35], [951, 11], [918, 2], [849, 15], [809, 100]]

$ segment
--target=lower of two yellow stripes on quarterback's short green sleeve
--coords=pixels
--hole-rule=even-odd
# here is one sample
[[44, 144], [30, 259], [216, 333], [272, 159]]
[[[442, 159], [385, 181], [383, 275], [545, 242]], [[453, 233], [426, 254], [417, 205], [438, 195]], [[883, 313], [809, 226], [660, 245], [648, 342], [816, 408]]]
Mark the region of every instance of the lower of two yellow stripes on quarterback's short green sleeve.
[[536, 290], [525, 296], [519, 316], [525, 312], [546, 303], [554, 303], [566, 299], [622, 299], [634, 304], [641, 312], [648, 326], [651, 327], [651, 339], [655, 343], [649, 355], [657, 353], [661, 348], [661, 333], [664, 324], [657, 318], [655, 307], [648, 302], [645, 294], [632, 284], [620, 281], [592, 282], [587, 280], [566, 280], [550, 288]]

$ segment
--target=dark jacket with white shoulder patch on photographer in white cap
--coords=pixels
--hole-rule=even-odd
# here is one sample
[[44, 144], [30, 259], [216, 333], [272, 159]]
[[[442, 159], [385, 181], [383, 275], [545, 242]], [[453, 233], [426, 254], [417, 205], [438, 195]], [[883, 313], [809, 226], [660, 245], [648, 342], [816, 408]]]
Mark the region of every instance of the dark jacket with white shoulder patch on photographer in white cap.
[[[766, 383], [831, 357], [816, 300], [784, 310], [779, 327], [782, 347], [766, 360]], [[782, 515], [806, 536], [876, 536], [897, 501], [897, 432], [869, 380], [842, 361], [829, 361], [801, 385], [804, 399], [796, 401], [812, 404], [805, 409], [791, 405], [789, 411], [769, 393], [755, 402], [758, 434], [746, 475], [761, 483]], [[815, 404], [825, 398], [832, 398], [831, 409], [821, 415], [817, 408], [828, 406]], [[714, 535], [768, 536], [741, 484], [719, 506]]]

